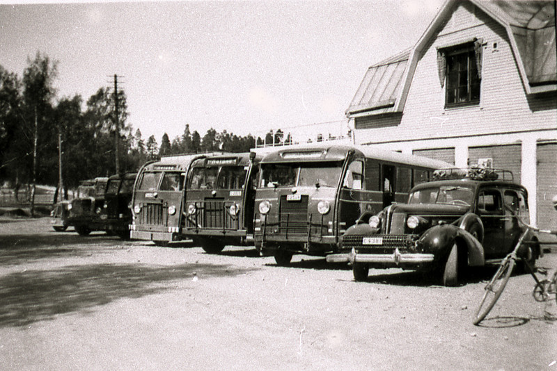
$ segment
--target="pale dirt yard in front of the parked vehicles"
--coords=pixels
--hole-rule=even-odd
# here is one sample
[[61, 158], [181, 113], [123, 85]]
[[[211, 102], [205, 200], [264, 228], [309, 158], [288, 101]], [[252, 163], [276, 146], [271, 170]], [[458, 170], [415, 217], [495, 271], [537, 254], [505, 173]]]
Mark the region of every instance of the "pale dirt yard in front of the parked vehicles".
[[[557, 267], [557, 249], [537, 265]], [[0, 368], [557, 370], [557, 322], [530, 276], [473, 326], [493, 272], [455, 288], [400, 270], [356, 283], [307, 256], [278, 267], [246, 247], [209, 255], [4, 218]]]

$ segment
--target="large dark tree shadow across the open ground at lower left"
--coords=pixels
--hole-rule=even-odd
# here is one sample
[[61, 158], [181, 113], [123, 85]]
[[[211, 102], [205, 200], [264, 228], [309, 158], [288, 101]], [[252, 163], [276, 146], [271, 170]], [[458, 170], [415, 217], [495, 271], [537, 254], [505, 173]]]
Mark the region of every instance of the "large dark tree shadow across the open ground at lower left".
[[93, 264], [12, 273], [0, 278], [0, 327], [24, 326], [63, 313], [91, 311], [121, 298], [157, 294], [171, 290], [168, 283], [194, 275], [235, 277], [248, 271], [209, 264]]

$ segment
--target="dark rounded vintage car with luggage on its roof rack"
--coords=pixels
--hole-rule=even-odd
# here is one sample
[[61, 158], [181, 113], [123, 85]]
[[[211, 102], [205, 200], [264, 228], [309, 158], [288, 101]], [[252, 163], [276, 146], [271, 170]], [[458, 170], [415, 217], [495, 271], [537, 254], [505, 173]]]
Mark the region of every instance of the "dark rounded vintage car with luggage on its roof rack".
[[[414, 187], [407, 204], [364, 213], [347, 229], [341, 248], [356, 281], [366, 280], [370, 267], [400, 267], [455, 286], [468, 267], [499, 263], [515, 248], [529, 216], [528, 193], [512, 173], [450, 169], [437, 170], [433, 179]], [[527, 240], [521, 254], [533, 265], [542, 252], [536, 236]]]

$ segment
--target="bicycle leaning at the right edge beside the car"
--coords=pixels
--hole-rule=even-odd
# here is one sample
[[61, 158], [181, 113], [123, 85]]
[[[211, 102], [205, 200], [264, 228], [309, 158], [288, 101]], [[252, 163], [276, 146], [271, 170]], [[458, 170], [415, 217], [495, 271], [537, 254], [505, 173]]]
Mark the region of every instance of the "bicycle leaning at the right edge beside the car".
[[[512, 274], [512, 269], [515, 267], [518, 259], [520, 259], [524, 263], [524, 266], [527, 268], [528, 272], [532, 275], [533, 279], [536, 281], [532, 295], [537, 302], [546, 302], [549, 299], [550, 295], [556, 292], [557, 271], [555, 272], [555, 274], [551, 279], [544, 279], [540, 281], [538, 277], [535, 275], [534, 268], [528, 263], [526, 257], [518, 255], [519, 248], [524, 242], [526, 236], [528, 236], [528, 234], [530, 234], [531, 231], [557, 234], [557, 231], [546, 231], [546, 230], [535, 228], [534, 226], [526, 225], [526, 229], [521, 234], [517, 242], [517, 245], [515, 246], [515, 249], [513, 249], [512, 252], [510, 252], [510, 254], [505, 256], [505, 258], [503, 258], [503, 261], [501, 261], [501, 265], [499, 265], [499, 269], [494, 274], [491, 281], [489, 281], [489, 283], [487, 283], [487, 285], [485, 286], [484, 288], [485, 292], [483, 294], [482, 301], [478, 306], [478, 310], [476, 311], [473, 324], [477, 325], [480, 322], [482, 322], [485, 316], [487, 315], [487, 313], [489, 313], [489, 311], [492, 310], [493, 306], [501, 296], [501, 293], [505, 289], [505, 286], [507, 285], [507, 282], [510, 279], [510, 274]], [[557, 302], [557, 294], [555, 299]]]

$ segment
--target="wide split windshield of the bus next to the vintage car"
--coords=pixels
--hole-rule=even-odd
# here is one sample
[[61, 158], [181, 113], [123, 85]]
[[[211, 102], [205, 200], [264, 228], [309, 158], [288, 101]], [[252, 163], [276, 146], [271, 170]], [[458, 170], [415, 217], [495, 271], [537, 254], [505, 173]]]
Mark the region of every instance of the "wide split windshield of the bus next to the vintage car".
[[335, 188], [342, 163], [289, 163], [262, 166], [261, 187]]

